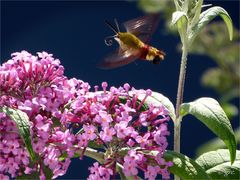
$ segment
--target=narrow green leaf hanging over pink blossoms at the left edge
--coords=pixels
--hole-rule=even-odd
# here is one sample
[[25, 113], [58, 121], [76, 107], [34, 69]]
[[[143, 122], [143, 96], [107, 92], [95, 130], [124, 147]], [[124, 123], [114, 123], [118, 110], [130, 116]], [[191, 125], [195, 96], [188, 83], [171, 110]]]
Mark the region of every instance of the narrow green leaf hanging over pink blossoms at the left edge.
[[36, 159], [36, 156], [32, 148], [29, 118], [27, 114], [18, 109], [13, 109], [6, 106], [0, 108], [0, 112], [4, 112], [5, 114], [7, 114], [11, 118], [11, 120], [16, 123], [19, 134], [25, 143], [31, 159], [34, 161]]

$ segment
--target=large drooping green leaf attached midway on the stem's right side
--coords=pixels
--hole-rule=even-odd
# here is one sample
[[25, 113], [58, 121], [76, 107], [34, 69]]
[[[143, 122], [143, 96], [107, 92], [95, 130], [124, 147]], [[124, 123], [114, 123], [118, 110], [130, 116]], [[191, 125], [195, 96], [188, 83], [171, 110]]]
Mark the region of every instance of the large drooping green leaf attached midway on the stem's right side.
[[236, 140], [231, 123], [219, 103], [212, 98], [200, 98], [180, 107], [180, 114], [191, 114], [203, 122], [224, 141], [231, 154], [231, 162], [236, 158]]

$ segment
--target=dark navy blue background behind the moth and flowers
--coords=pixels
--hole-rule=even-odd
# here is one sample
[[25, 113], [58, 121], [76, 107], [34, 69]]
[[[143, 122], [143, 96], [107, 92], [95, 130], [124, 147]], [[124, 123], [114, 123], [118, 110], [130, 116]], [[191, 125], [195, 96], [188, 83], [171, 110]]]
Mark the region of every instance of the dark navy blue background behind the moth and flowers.
[[[239, 1], [207, 1], [225, 8], [239, 28]], [[117, 45], [107, 47], [104, 38], [113, 32], [104, 20], [119, 22], [144, 15], [134, 2], [125, 1], [1, 1], [1, 60], [10, 59], [13, 52], [27, 50], [33, 55], [46, 51], [59, 58], [65, 67], [65, 75], [89, 82], [92, 87], [107, 81], [121, 86], [128, 82], [137, 89], [151, 88], [167, 96], [174, 104], [177, 92], [180, 53], [177, 36], [169, 35], [161, 21], [151, 45], [167, 54], [160, 65], [137, 61], [122, 68], [101, 70], [96, 64], [113, 51]], [[216, 18], [220, 20], [220, 18]], [[217, 52], [216, 52], [217, 53]], [[190, 55], [186, 75], [184, 101], [199, 97], [218, 98], [214, 91], [200, 84], [202, 73], [215, 63], [207, 56]], [[236, 102], [238, 103], [238, 102]], [[232, 122], [237, 127], [237, 121]], [[173, 125], [169, 149], [173, 147]], [[195, 156], [196, 148], [215, 137], [202, 123], [187, 116], [182, 123], [181, 152]], [[60, 178], [86, 178], [91, 160], [73, 160], [65, 176]]]

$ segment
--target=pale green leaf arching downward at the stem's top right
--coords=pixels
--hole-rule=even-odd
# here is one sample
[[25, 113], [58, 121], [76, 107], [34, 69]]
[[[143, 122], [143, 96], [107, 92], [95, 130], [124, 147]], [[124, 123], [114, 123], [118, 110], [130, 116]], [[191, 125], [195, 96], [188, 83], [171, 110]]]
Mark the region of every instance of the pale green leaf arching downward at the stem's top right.
[[216, 16], [222, 17], [225, 24], [227, 25], [230, 40], [232, 40], [233, 37], [232, 19], [227, 13], [227, 11], [219, 6], [211, 7], [200, 14], [199, 21], [195, 26], [193, 26], [192, 32], [189, 35], [189, 39], [193, 40], [196, 37], [196, 35]]

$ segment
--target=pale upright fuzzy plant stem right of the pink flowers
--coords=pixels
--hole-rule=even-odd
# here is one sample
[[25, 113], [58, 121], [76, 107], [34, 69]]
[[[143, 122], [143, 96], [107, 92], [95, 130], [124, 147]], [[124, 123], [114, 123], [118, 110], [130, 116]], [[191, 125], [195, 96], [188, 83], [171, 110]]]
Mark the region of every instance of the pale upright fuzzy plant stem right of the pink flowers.
[[[180, 116], [180, 105], [183, 102], [183, 91], [184, 91], [184, 82], [185, 82], [185, 75], [186, 75], [186, 67], [187, 67], [187, 54], [188, 49], [183, 42], [182, 48], [182, 58], [181, 58], [181, 67], [179, 73], [179, 80], [178, 80], [178, 91], [177, 91], [177, 102], [176, 102], [176, 120], [174, 122], [174, 151], [180, 153], [180, 142], [181, 142], [181, 120], [182, 117]], [[180, 179], [175, 175], [175, 180]]]

